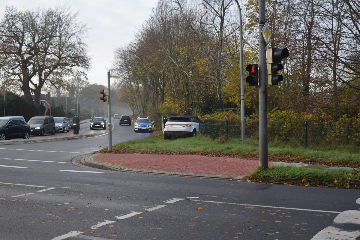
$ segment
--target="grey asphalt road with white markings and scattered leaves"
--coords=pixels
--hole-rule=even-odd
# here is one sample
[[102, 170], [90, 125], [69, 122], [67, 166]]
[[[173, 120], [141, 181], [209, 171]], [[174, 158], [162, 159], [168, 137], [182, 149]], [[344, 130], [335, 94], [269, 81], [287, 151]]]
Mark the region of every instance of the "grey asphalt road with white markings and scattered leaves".
[[[149, 135], [116, 120], [113, 144]], [[332, 239], [360, 235], [359, 190], [103, 171], [76, 158], [108, 146], [107, 130], [84, 123], [80, 131], [96, 136], [0, 146], [0, 239], [317, 240], [337, 228], [342, 235]]]

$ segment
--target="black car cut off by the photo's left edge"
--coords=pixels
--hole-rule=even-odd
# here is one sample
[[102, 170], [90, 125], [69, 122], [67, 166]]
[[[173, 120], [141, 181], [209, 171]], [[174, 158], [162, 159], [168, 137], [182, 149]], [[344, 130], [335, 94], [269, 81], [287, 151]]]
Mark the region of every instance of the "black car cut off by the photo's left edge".
[[31, 130], [29, 124], [21, 119], [0, 119], [0, 140], [10, 140], [14, 137], [28, 139]]

